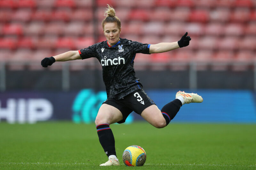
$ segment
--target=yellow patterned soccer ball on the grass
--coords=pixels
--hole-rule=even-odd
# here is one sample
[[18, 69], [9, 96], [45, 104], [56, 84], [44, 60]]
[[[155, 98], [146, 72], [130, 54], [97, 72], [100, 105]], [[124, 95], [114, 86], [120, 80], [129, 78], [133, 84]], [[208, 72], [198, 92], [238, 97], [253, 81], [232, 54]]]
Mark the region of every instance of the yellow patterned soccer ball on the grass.
[[138, 145], [129, 146], [124, 150], [123, 161], [126, 166], [143, 166], [146, 162], [146, 152]]

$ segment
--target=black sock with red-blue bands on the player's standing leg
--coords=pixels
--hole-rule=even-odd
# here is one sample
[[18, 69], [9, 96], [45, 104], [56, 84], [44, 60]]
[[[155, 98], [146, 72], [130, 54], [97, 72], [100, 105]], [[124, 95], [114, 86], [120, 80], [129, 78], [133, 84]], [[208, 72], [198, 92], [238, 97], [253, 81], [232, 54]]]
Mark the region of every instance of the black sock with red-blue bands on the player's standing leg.
[[107, 156], [116, 155], [115, 138], [109, 124], [104, 123], [96, 126], [100, 144]]

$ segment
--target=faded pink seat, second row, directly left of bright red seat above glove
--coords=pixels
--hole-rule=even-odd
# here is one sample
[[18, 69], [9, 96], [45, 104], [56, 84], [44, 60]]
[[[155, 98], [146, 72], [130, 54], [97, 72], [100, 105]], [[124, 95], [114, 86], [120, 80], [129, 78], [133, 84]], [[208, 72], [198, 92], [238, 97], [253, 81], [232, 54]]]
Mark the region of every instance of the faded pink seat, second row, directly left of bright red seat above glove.
[[190, 8], [177, 7], [170, 13], [171, 21], [184, 22], [187, 21], [190, 14]]

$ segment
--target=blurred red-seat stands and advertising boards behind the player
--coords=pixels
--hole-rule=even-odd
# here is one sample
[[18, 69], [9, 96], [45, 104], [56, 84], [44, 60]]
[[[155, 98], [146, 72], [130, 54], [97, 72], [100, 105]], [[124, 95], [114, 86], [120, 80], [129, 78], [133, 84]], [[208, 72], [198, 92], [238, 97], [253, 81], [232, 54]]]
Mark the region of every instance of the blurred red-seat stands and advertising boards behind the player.
[[[41, 60], [105, 41], [107, 4], [121, 19], [121, 38], [192, 38], [188, 47], [134, 60], [136, 77], [160, 109], [178, 90], [203, 96], [174, 122], [256, 122], [255, 0], [1, 0], [0, 122], [94, 122], [107, 98], [100, 63], [90, 58], [45, 69]], [[135, 120], [141, 117], [133, 113], [126, 122]]]

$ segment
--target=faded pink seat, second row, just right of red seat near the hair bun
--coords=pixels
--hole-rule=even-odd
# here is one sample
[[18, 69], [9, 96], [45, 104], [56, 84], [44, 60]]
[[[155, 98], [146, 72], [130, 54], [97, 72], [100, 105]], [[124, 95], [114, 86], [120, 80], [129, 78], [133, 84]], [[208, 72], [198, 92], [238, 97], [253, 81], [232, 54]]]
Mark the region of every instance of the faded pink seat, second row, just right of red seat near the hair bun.
[[171, 10], [168, 7], [158, 7], [150, 13], [150, 20], [156, 21], [170, 21], [171, 19]]

